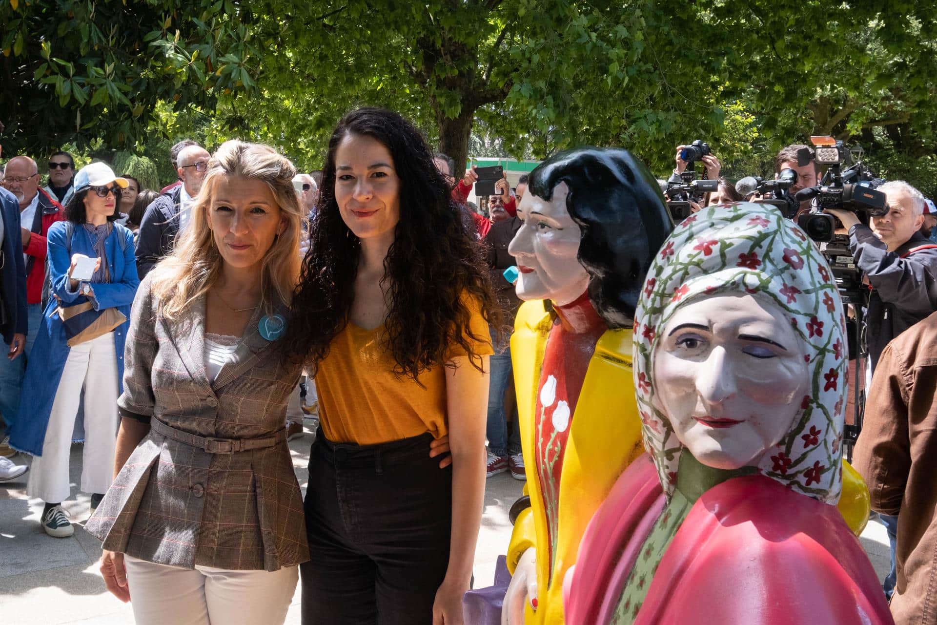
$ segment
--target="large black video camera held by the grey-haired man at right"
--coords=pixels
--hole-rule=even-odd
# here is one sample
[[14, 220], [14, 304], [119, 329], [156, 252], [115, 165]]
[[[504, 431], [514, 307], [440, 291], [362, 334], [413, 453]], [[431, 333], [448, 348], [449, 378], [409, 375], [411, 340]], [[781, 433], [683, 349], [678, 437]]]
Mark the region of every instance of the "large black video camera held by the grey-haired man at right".
[[[865, 169], [862, 161], [853, 163], [852, 151], [843, 147], [842, 141], [832, 137], [811, 137], [815, 150], [803, 148], [797, 153], [797, 165], [803, 167], [811, 161], [818, 165], [828, 165], [819, 186], [810, 186], [797, 191], [796, 201], [813, 201], [813, 210], [797, 217], [797, 225], [807, 235], [819, 243], [834, 240], [835, 232], [840, 227], [840, 220], [824, 213], [825, 209], [836, 208], [852, 211], [860, 216], [881, 217], [888, 213], [885, 194], [875, 187], [885, 180], [875, 178]], [[862, 148], [856, 152], [861, 155]], [[842, 165], [849, 167], [845, 170]]]

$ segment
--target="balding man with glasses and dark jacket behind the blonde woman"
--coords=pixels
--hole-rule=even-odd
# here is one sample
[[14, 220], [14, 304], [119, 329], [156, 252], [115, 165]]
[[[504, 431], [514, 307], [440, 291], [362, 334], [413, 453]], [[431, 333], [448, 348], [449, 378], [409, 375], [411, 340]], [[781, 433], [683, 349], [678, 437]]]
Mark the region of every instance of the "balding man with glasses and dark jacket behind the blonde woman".
[[176, 236], [186, 230], [188, 208], [199, 195], [209, 158], [211, 155], [201, 145], [187, 146], [179, 153], [179, 168], [176, 170], [182, 184], [160, 195], [146, 207], [137, 238], [137, 269], [141, 278], [172, 251]]

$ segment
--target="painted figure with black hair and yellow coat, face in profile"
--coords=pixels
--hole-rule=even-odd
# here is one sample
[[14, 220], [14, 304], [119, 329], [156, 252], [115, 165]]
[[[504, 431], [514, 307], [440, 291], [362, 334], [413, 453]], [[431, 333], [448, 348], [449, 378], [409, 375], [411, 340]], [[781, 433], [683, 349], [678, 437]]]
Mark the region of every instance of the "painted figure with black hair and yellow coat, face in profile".
[[[471, 591], [466, 622], [562, 622], [562, 584], [589, 518], [643, 453], [631, 375], [632, 318], [673, 228], [647, 169], [583, 148], [530, 173], [509, 251], [524, 300], [511, 341], [530, 507], [517, 517], [501, 588]], [[552, 309], [544, 309], [549, 300]], [[527, 617], [525, 618], [525, 611]]]

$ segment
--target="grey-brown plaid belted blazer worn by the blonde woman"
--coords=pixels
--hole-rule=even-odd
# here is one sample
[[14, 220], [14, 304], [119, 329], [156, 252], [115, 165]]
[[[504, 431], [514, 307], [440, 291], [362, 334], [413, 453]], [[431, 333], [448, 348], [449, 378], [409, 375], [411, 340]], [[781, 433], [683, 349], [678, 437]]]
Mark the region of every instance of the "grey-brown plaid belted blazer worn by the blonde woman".
[[[260, 308], [214, 382], [204, 362], [205, 301], [156, 319], [151, 276], [130, 315], [121, 413], [201, 437], [255, 439], [283, 428], [301, 367], [260, 336]], [[129, 413], [129, 414], [128, 414]], [[276, 571], [309, 559], [290, 450], [210, 454], [153, 430], [85, 527], [105, 549], [159, 564]]]

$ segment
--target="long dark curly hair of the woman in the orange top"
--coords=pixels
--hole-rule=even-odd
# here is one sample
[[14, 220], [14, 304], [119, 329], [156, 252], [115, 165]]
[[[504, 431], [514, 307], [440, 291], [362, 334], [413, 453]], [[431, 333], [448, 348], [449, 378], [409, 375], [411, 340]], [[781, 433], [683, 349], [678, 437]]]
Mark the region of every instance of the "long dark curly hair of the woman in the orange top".
[[314, 375], [332, 339], [349, 323], [361, 241], [335, 201], [335, 151], [349, 135], [383, 144], [400, 179], [400, 221], [384, 259], [389, 310], [382, 340], [394, 358], [394, 373], [417, 380], [426, 369], [445, 364], [454, 344], [481, 369], [473, 341], [488, 336], [471, 333], [469, 305], [473, 300], [480, 305], [495, 328], [504, 319], [481, 246], [464, 226], [462, 209], [452, 201], [419, 130], [399, 114], [375, 108], [347, 114], [329, 140], [309, 252], [290, 306], [288, 354], [305, 361]]

